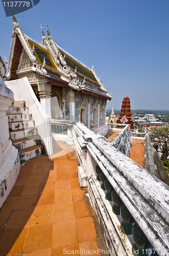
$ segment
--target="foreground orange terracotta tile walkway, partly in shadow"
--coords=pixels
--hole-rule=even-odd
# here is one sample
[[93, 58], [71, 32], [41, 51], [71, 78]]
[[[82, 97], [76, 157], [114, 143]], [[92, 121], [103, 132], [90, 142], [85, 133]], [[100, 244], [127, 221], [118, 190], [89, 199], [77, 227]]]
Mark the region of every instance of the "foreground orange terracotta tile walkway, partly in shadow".
[[106, 252], [87, 188], [78, 183], [75, 151], [58, 144], [51, 160], [40, 156], [21, 166], [0, 210], [0, 256], [60, 256], [75, 250], [89, 255], [88, 247]]

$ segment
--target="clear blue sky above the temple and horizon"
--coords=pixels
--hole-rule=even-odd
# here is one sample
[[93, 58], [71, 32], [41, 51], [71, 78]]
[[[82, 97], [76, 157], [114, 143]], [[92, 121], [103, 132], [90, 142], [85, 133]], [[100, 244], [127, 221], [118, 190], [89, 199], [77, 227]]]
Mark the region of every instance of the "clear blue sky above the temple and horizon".
[[[8, 59], [13, 20], [0, 7], [0, 55]], [[94, 65], [112, 92], [107, 109], [121, 109], [128, 96], [133, 110], [169, 110], [168, 13], [168, 0], [41, 0], [15, 16], [33, 39], [41, 42], [48, 25], [61, 48]]]

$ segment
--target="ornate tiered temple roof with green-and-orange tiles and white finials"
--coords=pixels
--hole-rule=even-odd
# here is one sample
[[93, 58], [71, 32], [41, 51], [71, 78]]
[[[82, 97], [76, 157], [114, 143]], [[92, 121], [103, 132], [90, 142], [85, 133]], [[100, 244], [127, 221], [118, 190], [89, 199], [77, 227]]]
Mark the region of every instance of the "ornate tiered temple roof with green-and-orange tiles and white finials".
[[[14, 20], [13, 39], [7, 67], [8, 80], [17, 79], [18, 75], [21, 77], [26, 72], [27, 74], [34, 72], [45, 77], [48, 82], [52, 83], [57, 80], [62, 83], [62, 86], [68, 86], [79, 93], [87, 93], [111, 100], [112, 94], [107, 93], [108, 88], [104, 88], [93, 67], [92, 69], [86, 67], [59, 47], [51, 38], [48, 26], [47, 37], [41, 26], [42, 41], [39, 43], [25, 35], [21, 27], [18, 26], [16, 18], [13, 15], [12, 18]], [[21, 65], [23, 49], [29, 57], [30, 67]]]

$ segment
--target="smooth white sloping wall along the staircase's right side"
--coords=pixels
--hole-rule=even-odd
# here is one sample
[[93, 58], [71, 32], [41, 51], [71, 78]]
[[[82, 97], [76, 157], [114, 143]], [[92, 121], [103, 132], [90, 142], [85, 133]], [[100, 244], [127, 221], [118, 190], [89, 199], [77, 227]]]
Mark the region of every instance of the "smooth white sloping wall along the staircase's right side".
[[41, 143], [44, 145], [48, 156], [53, 154], [51, 122], [50, 118], [44, 113], [27, 77], [7, 81], [6, 85], [14, 92], [16, 101], [24, 100], [29, 107], [30, 113], [35, 121], [38, 134], [41, 136]]

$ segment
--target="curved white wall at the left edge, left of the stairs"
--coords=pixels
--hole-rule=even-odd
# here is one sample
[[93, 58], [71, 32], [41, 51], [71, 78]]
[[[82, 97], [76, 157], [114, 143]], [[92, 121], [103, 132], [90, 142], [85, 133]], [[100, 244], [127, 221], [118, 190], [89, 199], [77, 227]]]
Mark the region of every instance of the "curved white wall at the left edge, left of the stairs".
[[5, 74], [5, 64], [0, 56], [0, 208], [10, 194], [20, 169], [19, 152], [9, 139], [6, 112], [14, 100], [14, 94], [4, 82]]

